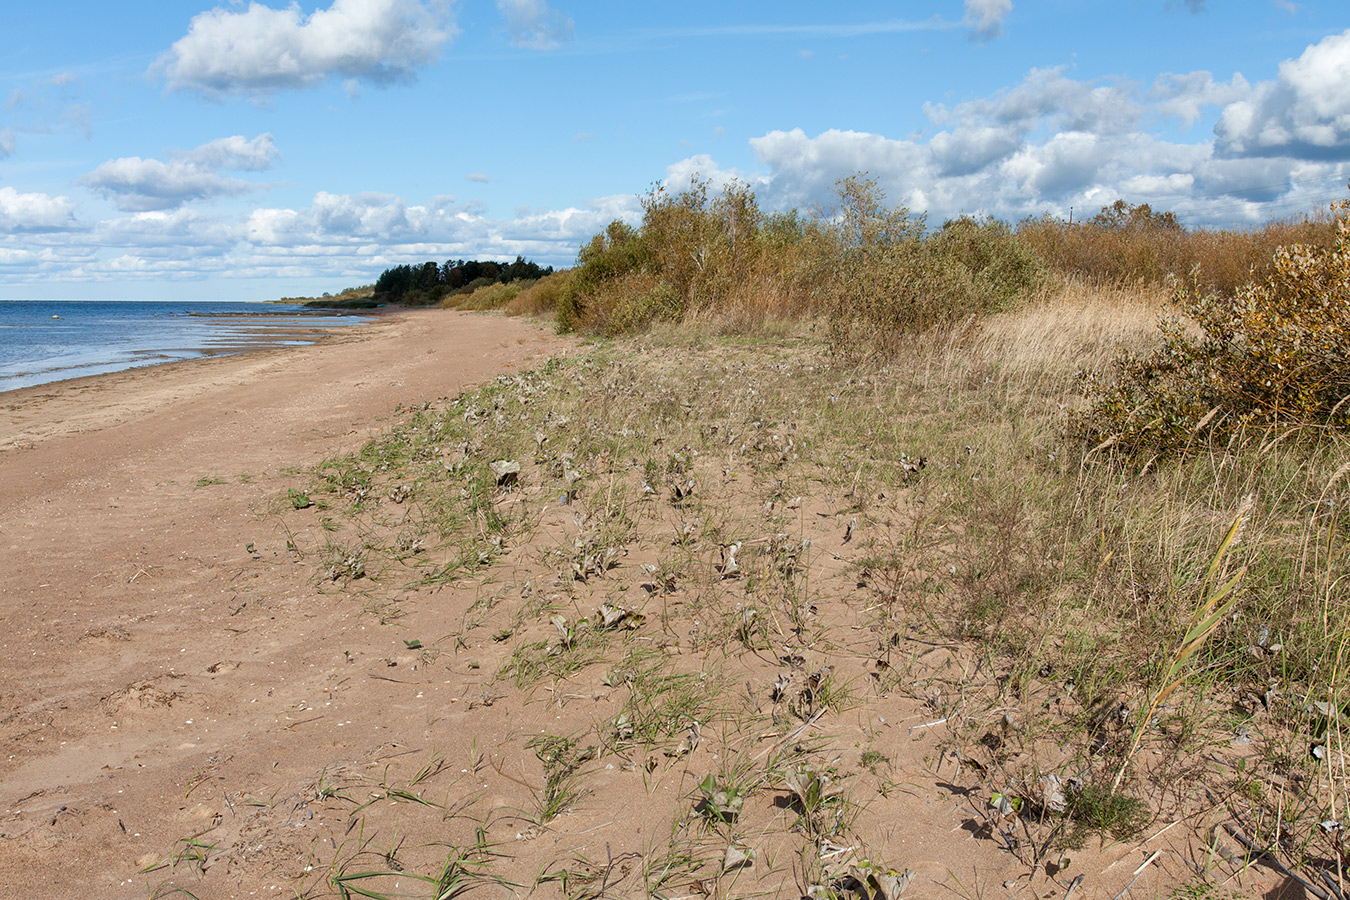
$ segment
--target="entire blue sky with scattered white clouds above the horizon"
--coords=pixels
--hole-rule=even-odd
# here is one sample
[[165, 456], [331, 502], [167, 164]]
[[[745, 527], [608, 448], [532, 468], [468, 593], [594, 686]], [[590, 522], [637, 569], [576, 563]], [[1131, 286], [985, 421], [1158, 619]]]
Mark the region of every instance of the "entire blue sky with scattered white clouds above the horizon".
[[655, 186], [1191, 227], [1350, 181], [1345, 0], [9, 4], [0, 298], [270, 300], [567, 266]]

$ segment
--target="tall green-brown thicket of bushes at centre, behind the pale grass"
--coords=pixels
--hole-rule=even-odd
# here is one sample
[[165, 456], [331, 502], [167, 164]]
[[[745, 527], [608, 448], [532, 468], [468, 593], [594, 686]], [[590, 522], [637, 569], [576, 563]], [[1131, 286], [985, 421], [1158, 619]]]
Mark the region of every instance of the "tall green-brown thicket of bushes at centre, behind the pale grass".
[[1006, 308], [1041, 279], [1007, 225], [959, 219], [927, 235], [863, 177], [840, 182], [821, 216], [764, 213], [745, 185], [710, 197], [695, 181], [652, 192], [640, 227], [616, 221], [583, 246], [556, 310], [563, 331], [603, 335], [824, 316], [840, 351], [884, 356], [902, 335]]

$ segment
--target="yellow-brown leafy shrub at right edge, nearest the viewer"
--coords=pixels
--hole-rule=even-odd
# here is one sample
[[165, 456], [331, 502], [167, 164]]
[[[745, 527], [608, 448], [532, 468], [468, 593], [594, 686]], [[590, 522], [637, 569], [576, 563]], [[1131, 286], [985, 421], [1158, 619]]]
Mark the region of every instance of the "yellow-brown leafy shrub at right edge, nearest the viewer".
[[1278, 248], [1265, 279], [1222, 294], [1183, 285], [1185, 321], [1160, 322], [1149, 354], [1089, 376], [1077, 429], [1130, 453], [1165, 453], [1242, 429], [1350, 424], [1350, 201], [1331, 247]]

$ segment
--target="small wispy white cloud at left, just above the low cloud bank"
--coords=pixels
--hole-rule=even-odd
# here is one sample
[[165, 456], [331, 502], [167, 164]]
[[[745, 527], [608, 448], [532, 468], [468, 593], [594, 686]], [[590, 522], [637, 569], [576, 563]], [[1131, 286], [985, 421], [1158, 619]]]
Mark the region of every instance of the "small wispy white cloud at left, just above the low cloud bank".
[[251, 140], [232, 135], [173, 155], [169, 162], [140, 157], [109, 159], [84, 175], [80, 184], [127, 212], [174, 209], [193, 200], [238, 197], [265, 188], [220, 173], [262, 171], [278, 157], [270, 134]]

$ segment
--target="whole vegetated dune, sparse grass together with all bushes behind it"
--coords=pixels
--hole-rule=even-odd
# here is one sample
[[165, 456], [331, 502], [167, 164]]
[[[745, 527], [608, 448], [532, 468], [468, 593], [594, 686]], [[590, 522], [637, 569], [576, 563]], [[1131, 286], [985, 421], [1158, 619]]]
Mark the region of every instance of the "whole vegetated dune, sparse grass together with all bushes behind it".
[[[1029, 881], [1072, 893], [1075, 847], [1193, 827], [1177, 893], [1260, 854], [1345, 900], [1346, 213], [929, 229], [865, 178], [815, 216], [695, 182], [574, 269], [464, 294], [636, 337], [405, 410], [278, 514], [381, 627], [463, 588], [420, 652], [556, 733], [502, 738], [532, 781], [446, 766], [518, 804], [427, 826], [450, 862], [359, 868], [375, 845], [335, 841], [328, 887], [490, 881], [514, 835], [564, 896], [894, 897], [923, 769], [959, 785], [971, 851]], [[632, 865], [528, 843], [644, 793], [664, 820]], [[327, 827], [416, 830], [379, 803]], [[630, 846], [609, 824], [587, 839]]]

